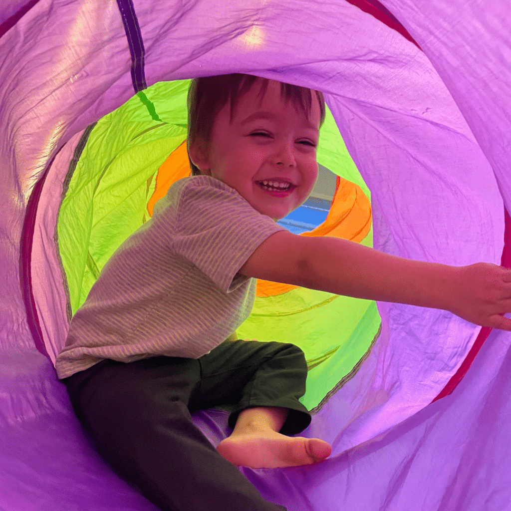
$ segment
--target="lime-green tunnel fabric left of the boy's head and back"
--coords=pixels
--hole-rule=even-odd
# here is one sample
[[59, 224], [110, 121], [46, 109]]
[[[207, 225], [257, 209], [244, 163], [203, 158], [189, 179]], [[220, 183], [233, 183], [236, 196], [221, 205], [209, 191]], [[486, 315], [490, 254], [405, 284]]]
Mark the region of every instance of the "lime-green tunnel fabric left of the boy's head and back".
[[[155, 174], [186, 140], [186, 127], [171, 121], [186, 126], [189, 83], [155, 84], [105, 115], [90, 134], [58, 223], [73, 314], [115, 249], [149, 218]], [[156, 108], [162, 122], [153, 119]]]

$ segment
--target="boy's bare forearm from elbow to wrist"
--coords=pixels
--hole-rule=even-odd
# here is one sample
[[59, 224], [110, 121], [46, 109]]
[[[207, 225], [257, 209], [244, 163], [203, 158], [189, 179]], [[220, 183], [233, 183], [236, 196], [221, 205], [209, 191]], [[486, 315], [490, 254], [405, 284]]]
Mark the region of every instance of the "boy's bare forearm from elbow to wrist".
[[404, 259], [340, 238], [310, 239], [305, 287], [448, 310], [457, 267]]

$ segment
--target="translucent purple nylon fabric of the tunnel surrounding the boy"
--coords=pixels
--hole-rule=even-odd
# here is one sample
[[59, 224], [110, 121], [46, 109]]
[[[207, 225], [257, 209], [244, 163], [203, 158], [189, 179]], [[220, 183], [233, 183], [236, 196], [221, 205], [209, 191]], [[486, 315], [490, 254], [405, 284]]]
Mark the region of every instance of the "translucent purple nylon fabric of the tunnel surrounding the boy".
[[[500, 264], [503, 206], [511, 210], [506, 6], [381, 3], [424, 53], [343, 0], [133, 5], [148, 85], [246, 72], [324, 92], [371, 190], [375, 248]], [[21, 5], [3, 4], [0, 19]], [[0, 55], [0, 509], [153, 510], [96, 454], [29, 327], [39, 322], [54, 360], [67, 328], [53, 242], [62, 179], [86, 126], [133, 95], [118, 5], [40, 0], [0, 39]], [[20, 246], [43, 175], [30, 254], [37, 318], [28, 318]], [[480, 328], [446, 311], [378, 309], [374, 350], [303, 433], [330, 442], [331, 458], [242, 472], [296, 511], [511, 508], [511, 335], [493, 330], [454, 392], [428, 405]], [[227, 416], [194, 421], [217, 445]]]

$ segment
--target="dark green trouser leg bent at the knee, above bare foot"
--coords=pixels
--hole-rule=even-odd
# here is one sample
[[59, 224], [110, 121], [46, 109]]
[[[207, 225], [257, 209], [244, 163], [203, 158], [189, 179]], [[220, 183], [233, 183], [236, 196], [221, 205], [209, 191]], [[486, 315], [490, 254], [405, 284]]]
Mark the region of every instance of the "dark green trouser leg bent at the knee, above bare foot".
[[200, 357], [200, 385], [192, 392], [191, 411], [237, 404], [229, 416], [236, 425], [241, 411], [256, 406], [288, 408], [281, 433], [295, 435], [311, 423], [300, 403], [307, 380], [307, 362], [298, 346], [282, 342], [224, 341]]

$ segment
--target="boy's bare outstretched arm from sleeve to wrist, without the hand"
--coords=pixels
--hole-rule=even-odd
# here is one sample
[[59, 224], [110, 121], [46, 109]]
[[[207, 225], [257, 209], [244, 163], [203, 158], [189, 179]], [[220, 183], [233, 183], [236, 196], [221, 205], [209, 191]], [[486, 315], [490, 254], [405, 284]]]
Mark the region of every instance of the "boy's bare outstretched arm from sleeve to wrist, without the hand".
[[279, 231], [254, 250], [239, 272], [354, 298], [443, 309], [456, 270], [340, 238]]

